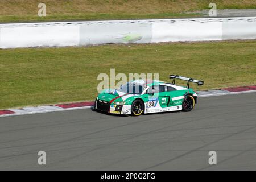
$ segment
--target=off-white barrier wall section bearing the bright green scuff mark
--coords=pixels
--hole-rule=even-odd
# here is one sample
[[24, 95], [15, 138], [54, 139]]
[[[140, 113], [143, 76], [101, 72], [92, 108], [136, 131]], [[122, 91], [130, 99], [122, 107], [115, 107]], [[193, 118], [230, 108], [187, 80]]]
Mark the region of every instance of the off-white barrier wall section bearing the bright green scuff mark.
[[80, 45], [107, 43], [148, 43], [152, 32], [150, 23], [94, 23], [80, 25]]

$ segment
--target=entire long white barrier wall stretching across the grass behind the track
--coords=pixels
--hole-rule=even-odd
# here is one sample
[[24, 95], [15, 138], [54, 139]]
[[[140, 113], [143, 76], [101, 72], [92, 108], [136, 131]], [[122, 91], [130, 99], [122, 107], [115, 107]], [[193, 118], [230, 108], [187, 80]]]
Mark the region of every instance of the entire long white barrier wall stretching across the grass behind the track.
[[256, 17], [0, 24], [0, 48], [256, 39]]

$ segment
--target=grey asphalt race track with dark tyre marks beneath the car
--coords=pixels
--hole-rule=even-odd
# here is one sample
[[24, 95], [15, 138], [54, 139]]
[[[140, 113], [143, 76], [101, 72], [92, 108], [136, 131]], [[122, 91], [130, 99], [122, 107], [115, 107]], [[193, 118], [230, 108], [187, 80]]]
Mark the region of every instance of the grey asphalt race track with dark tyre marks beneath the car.
[[[256, 170], [256, 93], [205, 97], [189, 113], [91, 109], [0, 118], [0, 169]], [[38, 151], [46, 151], [39, 166]], [[208, 152], [217, 152], [217, 165]]]

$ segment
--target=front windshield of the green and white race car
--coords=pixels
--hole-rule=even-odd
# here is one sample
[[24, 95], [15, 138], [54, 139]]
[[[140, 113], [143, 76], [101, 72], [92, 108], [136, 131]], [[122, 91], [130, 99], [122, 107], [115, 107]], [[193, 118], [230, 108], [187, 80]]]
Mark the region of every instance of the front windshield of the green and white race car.
[[127, 82], [125, 85], [122, 85], [117, 90], [124, 93], [141, 94], [144, 89], [146, 89], [146, 86], [144, 85], [137, 84], [134, 82]]

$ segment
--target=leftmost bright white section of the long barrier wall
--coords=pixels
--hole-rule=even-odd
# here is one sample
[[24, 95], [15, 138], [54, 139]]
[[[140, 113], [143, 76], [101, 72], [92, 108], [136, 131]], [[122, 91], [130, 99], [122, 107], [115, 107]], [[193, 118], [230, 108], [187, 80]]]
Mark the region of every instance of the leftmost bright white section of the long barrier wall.
[[0, 47], [76, 46], [79, 26], [1, 28]]

